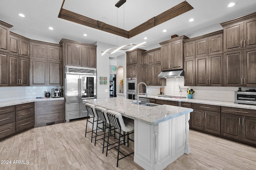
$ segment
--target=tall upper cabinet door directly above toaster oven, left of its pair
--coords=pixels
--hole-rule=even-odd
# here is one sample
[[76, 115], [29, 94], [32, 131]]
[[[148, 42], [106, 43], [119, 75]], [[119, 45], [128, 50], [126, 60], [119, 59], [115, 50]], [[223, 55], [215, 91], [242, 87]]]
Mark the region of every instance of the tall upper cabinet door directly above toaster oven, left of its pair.
[[224, 86], [243, 86], [243, 51], [224, 53]]

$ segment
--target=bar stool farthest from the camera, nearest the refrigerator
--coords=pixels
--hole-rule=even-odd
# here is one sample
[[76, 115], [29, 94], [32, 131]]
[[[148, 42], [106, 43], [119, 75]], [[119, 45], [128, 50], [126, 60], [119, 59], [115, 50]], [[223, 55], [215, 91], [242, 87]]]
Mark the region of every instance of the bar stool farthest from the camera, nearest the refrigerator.
[[[85, 129], [85, 137], [86, 137], [86, 133], [90, 133], [90, 132], [92, 132], [92, 137], [91, 137], [91, 143], [92, 143], [92, 138], [94, 138], [95, 137], [95, 142], [94, 142], [94, 146], [96, 145], [96, 137], [98, 136], [97, 135], [97, 131], [98, 130], [103, 130], [101, 127], [98, 127], [98, 116], [97, 116], [97, 114], [96, 114], [96, 110], [95, 110], [95, 106], [93, 105], [93, 104], [89, 104], [89, 103], [86, 103], [85, 104], [85, 107], [86, 107], [86, 109], [87, 109], [87, 111], [88, 111], [88, 113], [90, 114], [90, 115], [92, 115], [93, 116], [93, 120], [92, 121], [89, 121], [88, 120], [88, 118], [87, 118], [87, 121], [86, 121], [86, 129]], [[95, 120], [96, 119], [96, 120]], [[91, 131], [87, 131], [87, 124], [88, 124], [88, 122], [90, 122], [90, 123], [92, 123], [92, 130]], [[94, 122], [97, 122], [97, 125], [96, 125], [96, 129], [94, 129]], [[103, 123], [103, 122], [101, 122], [101, 123]], [[93, 130], [94, 129], [94, 130]], [[96, 131], [96, 132], [95, 132]], [[95, 136], [93, 136], [93, 134], [95, 134]]]

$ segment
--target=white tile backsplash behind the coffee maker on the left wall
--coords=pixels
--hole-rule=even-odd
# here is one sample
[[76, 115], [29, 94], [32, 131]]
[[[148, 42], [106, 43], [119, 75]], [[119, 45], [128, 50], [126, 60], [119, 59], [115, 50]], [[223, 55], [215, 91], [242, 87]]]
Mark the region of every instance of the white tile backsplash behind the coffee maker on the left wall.
[[52, 88], [60, 88], [60, 86], [0, 87], [0, 102], [7, 100], [44, 97], [44, 92], [51, 93]]

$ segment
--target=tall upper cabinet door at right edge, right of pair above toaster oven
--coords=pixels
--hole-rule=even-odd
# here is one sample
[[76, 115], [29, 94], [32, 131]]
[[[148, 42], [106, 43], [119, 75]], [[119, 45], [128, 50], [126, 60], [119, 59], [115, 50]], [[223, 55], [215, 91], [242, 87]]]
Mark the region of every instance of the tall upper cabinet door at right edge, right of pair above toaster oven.
[[247, 87], [256, 86], [256, 49], [244, 50], [244, 84]]

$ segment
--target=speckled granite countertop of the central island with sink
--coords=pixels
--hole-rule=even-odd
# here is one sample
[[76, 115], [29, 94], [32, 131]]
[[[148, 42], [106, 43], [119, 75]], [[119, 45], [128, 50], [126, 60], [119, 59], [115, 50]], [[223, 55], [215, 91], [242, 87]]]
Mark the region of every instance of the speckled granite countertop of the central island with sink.
[[88, 99], [83, 100], [83, 102], [104, 107], [107, 110], [117, 111], [124, 117], [138, 120], [148, 125], [155, 125], [193, 111], [193, 109], [190, 108], [170, 105], [159, 105], [154, 107], [136, 105], [132, 103], [132, 100], [125, 98]]

